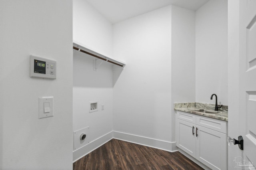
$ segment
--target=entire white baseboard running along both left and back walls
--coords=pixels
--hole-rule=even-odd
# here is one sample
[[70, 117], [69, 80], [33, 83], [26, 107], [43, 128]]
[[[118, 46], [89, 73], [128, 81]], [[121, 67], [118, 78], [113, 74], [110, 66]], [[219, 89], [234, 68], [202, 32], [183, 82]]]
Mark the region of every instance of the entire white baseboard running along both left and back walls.
[[168, 152], [178, 151], [178, 148], [176, 147], [176, 142], [167, 142], [164, 140], [158, 140], [153, 138], [147, 138], [144, 136], [137, 136], [134, 134], [112, 131], [101, 136], [96, 140], [93, 140], [92, 142], [88, 143], [82, 148], [79, 148], [78, 150], [73, 151], [73, 163], [79, 160], [80, 158], [86, 156], [93, 150], [99, 148], [106, 142], [110, 141], [112, 138], [124, 140], [131, 143], [136, 143], [144, 146], [149, 146], [152, 148], [166, 150]]

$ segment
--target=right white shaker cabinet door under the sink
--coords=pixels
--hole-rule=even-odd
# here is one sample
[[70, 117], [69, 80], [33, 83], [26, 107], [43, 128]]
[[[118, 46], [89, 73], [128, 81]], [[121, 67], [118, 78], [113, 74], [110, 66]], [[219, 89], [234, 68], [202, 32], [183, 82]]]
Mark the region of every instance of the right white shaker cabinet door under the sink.
[[227, 169], [227, 135], [198, 126], [196, 159], [213, 170]]

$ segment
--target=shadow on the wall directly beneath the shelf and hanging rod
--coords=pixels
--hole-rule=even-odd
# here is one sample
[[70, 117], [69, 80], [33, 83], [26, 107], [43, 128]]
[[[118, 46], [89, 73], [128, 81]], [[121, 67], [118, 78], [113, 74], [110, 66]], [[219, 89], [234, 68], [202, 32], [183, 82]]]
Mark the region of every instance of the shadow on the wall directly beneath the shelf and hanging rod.
[[94, 71], [95, 59], [95, 57], [74, 50], [73, 87], [113, 88], [122, 69], [114, 67], [113, 71], [113, 65], [103, 61], [97, 71]]

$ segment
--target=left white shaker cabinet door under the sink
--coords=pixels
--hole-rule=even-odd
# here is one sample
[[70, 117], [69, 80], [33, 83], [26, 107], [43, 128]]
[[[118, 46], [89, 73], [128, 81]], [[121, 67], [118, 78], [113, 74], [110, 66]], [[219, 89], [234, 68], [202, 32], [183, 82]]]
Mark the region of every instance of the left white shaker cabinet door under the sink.
[[176, 146], [196, 157], [196, 125], [194, 123], [176, 119]]

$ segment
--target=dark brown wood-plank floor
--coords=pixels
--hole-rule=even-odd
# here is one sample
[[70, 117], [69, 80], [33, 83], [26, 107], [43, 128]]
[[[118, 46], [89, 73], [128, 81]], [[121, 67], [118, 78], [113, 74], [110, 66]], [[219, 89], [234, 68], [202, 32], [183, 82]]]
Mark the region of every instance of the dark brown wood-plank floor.
[[74, 162], [73, 170], [203, 170], [180, 152], [112, 139]]

